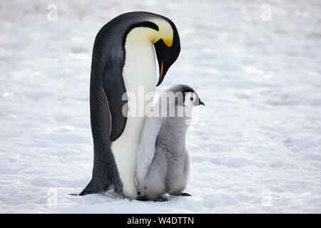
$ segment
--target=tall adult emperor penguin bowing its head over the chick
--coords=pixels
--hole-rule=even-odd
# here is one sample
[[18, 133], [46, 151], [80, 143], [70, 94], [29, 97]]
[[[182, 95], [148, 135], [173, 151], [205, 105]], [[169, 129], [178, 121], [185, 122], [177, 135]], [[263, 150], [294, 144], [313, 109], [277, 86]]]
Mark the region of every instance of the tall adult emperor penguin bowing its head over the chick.
[[[137, 197], [136, 150], [145, 116], [131, 113], [136, 107], [128, 107], [126, 95], [131, 93], [138, 98], [142, 88], [143, 95], [155, 91], [179, 53], [175, 24], [158, 14], [122, 14], [98, 32], [90, 85], [93, 173], [80, 195], [106, 192], [113, 187], [124, 197]], [[142, 99], [137, 100], [137, 105], [151, 103]]]

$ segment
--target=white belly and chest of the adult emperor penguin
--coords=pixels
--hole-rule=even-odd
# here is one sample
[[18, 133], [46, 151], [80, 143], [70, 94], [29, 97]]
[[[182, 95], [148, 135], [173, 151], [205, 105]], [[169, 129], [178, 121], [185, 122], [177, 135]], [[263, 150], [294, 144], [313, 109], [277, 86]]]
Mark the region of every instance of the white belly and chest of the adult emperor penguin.
[[123, 192], [133, 199], [137, 197], [136, 152], [145, 120], [145, 113], [142, 112], [146, 105], [151, 103], [151, 100], [145, 100], [145, 94], [156, 90], [156, 59], [153, 44], [150, 41], [142, 41], [137, 36], [140, 36], [140, 30], [135, 28], [126, 38], [123, 81], [129, 99], [129, 111], [123, 134], [111, 146], [123, 182]]

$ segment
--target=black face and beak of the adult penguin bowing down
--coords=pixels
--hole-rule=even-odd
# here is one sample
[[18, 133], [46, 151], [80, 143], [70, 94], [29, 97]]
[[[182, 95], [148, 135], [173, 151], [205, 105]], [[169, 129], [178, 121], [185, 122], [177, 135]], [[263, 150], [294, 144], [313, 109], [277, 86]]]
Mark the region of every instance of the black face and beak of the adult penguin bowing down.
[[[175, 26], [175, 25], [172, 25]], [[167, 39], [159, 39], [154, 43], [155, 52], [159, 67], [159, 78], [157, 86], [161, 85], [165, 78], [165, 74], [168, 69], [178, 58], [180, 54], [180, 38], [178, 36], [178, 31], [173, 28], [173, 40], [169, 41]]]

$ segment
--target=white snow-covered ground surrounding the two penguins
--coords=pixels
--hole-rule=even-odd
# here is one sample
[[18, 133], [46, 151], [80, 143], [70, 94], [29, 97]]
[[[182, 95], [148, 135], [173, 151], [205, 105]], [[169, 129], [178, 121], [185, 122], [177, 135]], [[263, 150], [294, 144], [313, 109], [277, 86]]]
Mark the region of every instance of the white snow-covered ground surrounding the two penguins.
[[[175, 22], [182, 50], [158, 91], [185, 83], [206, 103], [188, 135], [192, 197], [68, 195], [91, 179], [93, 40], [126, 11]], [[320, 63], [318, 0], [3, 0], [0, 212], [320, 213]]]

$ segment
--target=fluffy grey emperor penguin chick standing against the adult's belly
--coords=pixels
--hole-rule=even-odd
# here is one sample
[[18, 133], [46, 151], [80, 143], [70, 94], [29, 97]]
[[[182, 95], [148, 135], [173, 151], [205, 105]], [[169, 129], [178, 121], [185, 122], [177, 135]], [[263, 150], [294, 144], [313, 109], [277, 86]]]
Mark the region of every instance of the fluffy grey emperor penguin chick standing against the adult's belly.
[[136, 160], [138, 200], [166, 201], [184, 193], [190, 159], [185, 147], [192, 109], [204, 105], [193, 88], [172, 86], [160, 96], [144, 123]]

